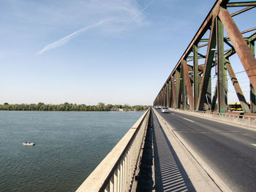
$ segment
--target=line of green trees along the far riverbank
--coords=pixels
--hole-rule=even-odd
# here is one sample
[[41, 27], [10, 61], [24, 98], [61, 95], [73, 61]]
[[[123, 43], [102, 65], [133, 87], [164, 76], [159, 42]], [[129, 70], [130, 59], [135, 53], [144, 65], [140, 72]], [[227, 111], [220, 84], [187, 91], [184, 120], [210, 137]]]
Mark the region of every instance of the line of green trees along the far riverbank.
[[86, 104], [44, 104], [39, 102], [38, 104], [0, 104], [0, 110], [15, 110], [15, 111], [143, 111], [147, 110], [149, 106], [135, 105], [129, 106], [128, 104], [104, 104], [99, 102], [97, 105]]

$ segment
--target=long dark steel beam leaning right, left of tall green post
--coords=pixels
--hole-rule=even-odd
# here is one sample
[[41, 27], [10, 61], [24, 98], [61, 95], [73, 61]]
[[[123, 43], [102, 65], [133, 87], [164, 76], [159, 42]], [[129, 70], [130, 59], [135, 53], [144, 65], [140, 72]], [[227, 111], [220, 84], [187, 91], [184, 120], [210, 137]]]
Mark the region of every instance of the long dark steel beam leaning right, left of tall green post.
[[208, 81], [211, 74], [211, 65], [214, 59], [214, 49], [216, 47], [216, 25], [215, 19], [212, 19], [211, 22], [211, 33], [208, 42], [207, 55], [206, 55], [206, 64], [203, 69], [203, 78], [200, 86], [200, 92], [198, 96], [197, 110], [203, 110], [203, 105], [206, 101], [206, 91], [208, 88]]

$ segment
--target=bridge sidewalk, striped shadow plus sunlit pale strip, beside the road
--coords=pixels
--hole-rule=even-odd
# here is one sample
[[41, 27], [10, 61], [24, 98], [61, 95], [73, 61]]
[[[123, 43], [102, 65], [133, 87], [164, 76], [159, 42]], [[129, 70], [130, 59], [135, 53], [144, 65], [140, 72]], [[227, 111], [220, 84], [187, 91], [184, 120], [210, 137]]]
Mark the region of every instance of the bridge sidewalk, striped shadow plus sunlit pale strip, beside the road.
[[152, 110], [151, 118], [156, 191], [229, 191], [206, 165], [197, 162], [158, 112]]

